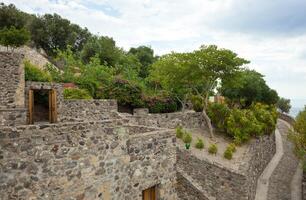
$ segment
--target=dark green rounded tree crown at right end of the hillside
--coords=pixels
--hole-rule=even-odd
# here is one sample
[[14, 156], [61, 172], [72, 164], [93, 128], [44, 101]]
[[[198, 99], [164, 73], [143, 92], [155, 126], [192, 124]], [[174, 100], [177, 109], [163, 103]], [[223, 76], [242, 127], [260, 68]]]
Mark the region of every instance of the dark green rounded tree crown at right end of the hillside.
[[278, 95], [270, 89], [263, 75], [254, 70], [244, 70], [222, 81], [220, 91], [223, 96], [247, 108], [254, 102], [276, 104]]

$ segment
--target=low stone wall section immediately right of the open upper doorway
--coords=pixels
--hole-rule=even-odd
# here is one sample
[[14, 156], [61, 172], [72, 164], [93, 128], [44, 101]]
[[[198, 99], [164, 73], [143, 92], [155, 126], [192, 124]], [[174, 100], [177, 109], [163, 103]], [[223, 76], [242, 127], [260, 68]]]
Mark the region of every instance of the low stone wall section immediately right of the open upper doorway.
[[118, 119], [116, 100], [64, 100], [60, 121]]

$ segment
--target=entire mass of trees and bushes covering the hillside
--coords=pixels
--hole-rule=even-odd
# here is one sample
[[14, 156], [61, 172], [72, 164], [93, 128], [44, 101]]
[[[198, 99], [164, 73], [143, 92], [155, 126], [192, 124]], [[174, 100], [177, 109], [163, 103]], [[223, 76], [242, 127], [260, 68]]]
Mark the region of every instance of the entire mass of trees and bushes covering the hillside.
[[[27, 62], [26, 79], [75, 83], [80, 90], [66, 91], [67, 98], [117, 99], [120, 106], [147, 107], [152, 113], [184, 110], [192, 102], [211, 136], [219, 129], [238, 144], [275, 128], [277, 92], [229, 49], [202, 45], [156, 56], [149, 46], [126, 51], [113, 38], [94, 35], [58, 14], [32, 15], [2, 3], [0, 18], [1, 34], [7, 35], [2, 45], [42, 48], [58, 67], [41, 70]], [[14, 34], [23, 40], [12, 42]], [[216, 93], [225, 103], [209, 103]]]

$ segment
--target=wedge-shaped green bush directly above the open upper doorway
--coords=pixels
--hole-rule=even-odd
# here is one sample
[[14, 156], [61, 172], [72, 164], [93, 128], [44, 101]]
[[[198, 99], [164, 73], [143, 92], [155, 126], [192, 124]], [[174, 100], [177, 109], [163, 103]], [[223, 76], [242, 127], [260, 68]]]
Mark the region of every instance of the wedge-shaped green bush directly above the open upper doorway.
[[24, 62], [25, 80], [37, 82], [51, 82], [51, 76], [44, 70], [39, 69], [29, 61]]

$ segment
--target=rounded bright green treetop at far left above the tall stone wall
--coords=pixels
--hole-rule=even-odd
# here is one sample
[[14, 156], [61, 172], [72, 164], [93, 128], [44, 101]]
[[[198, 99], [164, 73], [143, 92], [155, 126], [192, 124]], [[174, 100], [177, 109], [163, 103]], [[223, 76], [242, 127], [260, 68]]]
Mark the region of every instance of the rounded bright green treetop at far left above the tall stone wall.
[[3, 46], [20, 47], [30, 39], [30, 33], [22, 28], [16, 29], [14, 26], [0, 30], [0, 44]]

